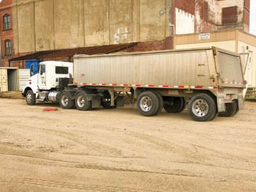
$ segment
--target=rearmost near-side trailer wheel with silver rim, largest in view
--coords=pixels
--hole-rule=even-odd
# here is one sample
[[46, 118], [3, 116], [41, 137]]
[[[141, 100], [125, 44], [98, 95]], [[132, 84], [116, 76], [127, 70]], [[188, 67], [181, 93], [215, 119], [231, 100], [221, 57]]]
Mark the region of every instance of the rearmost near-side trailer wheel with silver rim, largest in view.
[[216, 116], [217, 104], [211, 96], [200, 93], [189, 100], [188, 111], [194, 120], [207, 122]]

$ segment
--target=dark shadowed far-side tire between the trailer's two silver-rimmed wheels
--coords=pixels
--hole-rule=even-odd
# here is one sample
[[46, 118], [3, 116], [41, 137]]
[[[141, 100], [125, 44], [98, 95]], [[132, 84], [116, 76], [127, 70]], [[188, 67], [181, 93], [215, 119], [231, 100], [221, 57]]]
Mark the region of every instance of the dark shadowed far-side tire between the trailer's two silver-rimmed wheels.
[[184, 111], [184, 109], [186, 108], [186, 105], [187, 104], [184, 97], [169, 97], [165, 100], [164, 110], [167, 113], [180, 113]]

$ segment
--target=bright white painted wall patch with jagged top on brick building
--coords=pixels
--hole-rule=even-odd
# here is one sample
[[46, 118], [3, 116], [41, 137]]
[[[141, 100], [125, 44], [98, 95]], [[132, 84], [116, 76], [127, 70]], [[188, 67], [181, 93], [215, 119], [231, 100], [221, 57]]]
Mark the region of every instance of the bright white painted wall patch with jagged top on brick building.
[[195, 15], [175, 8], [175, 17], [177, 35], [195, 33]]

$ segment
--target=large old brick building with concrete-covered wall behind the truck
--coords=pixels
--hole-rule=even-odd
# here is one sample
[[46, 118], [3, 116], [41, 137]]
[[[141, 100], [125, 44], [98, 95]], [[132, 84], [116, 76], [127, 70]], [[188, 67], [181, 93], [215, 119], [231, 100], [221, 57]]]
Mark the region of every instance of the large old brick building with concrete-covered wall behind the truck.
[[3, 0], [0, 14], [2, 66], [8, 66], [9, 58], [31, 52], [131, 42], [139, 43], [127, 51], [173, 49], [174, 35], [248, 32], [250, 0]]

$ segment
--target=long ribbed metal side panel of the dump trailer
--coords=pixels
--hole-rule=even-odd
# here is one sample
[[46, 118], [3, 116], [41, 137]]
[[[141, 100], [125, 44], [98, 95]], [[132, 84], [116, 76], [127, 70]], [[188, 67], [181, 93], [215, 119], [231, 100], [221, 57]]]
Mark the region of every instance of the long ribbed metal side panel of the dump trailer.
[[207, 86], [211, 85], [208, 65], [214, 63], [207, 63], [206, 51], [75, 57], [74, 82]]

